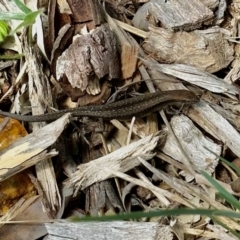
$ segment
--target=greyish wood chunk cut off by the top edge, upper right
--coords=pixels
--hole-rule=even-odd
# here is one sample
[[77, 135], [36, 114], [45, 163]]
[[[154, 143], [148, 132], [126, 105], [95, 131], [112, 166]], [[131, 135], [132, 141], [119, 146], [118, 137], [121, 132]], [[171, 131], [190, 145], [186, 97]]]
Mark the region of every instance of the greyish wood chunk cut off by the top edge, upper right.
[[213, 17], [213, 12], [199, 0], [151, 0], [136, 12], [133, 25], [143, 30], [148, 30], [150, 24], [189, 31], [209, 25]]

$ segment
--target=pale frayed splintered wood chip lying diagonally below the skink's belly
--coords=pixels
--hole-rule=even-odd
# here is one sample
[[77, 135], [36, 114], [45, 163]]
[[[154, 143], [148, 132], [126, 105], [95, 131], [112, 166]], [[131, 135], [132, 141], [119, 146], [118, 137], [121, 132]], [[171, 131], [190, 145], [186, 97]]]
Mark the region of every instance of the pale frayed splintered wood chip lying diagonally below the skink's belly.
[[150, 160], [154, 156], [152, 151], [156, 147], [158, 140], [158, 136], [151, 135], [99, 159], [82, 164], [66, 184], [73, 184], [77, 189], [83, 190], [94, 182], [103, 181], [112, 176], [111, 172], [106, 172], [105, 167], [112, 167], [117, 171], [126, 172], [139, 165], [137, 159], [139, 155], [146, 160]]

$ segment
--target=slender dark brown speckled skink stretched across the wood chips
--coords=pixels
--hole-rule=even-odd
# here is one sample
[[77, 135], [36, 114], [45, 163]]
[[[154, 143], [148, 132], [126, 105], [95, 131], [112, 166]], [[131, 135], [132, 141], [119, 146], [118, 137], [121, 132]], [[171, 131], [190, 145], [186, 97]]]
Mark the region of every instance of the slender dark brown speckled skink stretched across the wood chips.
[[199, 98], [187, 90], [172, 90], [143, 94], [137, 97], [120, 100], [105, 105], [84, 106], [72, 109], [64, 109], [55, 113], [41, 115], [18, 115], [0, 110], [0, 115], [14, 118], [24, 122], [43, 122], [53, 121], [65, 113], [71, 113], [73, 117], [93, 117], [103, 119], [125, 120], [131, 117], [143, 117], [155, 111], [174, 106], [176, 104], [193, 104]]

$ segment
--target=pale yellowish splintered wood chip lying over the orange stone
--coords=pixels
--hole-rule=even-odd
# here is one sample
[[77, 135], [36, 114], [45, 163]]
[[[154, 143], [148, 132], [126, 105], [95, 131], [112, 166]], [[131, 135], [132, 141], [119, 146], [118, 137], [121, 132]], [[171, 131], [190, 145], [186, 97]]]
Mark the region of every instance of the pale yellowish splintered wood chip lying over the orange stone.
[[48, 152], [47, 148], [57, 141], [68, 121], [69, 114], [17, 140], [1, 151], [0, 181], [33, 166], [44, 158], [57, 155], [56, 151]]

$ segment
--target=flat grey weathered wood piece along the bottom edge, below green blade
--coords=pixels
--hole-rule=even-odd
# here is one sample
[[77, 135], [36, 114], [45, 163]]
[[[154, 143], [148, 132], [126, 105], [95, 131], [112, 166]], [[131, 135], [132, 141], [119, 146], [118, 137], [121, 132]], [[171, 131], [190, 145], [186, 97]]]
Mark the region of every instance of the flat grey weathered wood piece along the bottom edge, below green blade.
[[[173, 239], [170, 226], [161, 226], [157, 222], [88, 222], [45, 224], [48, 236], [46, 240], [60, 239]], [[79, 233], [81, 233], [79, 235]]]

